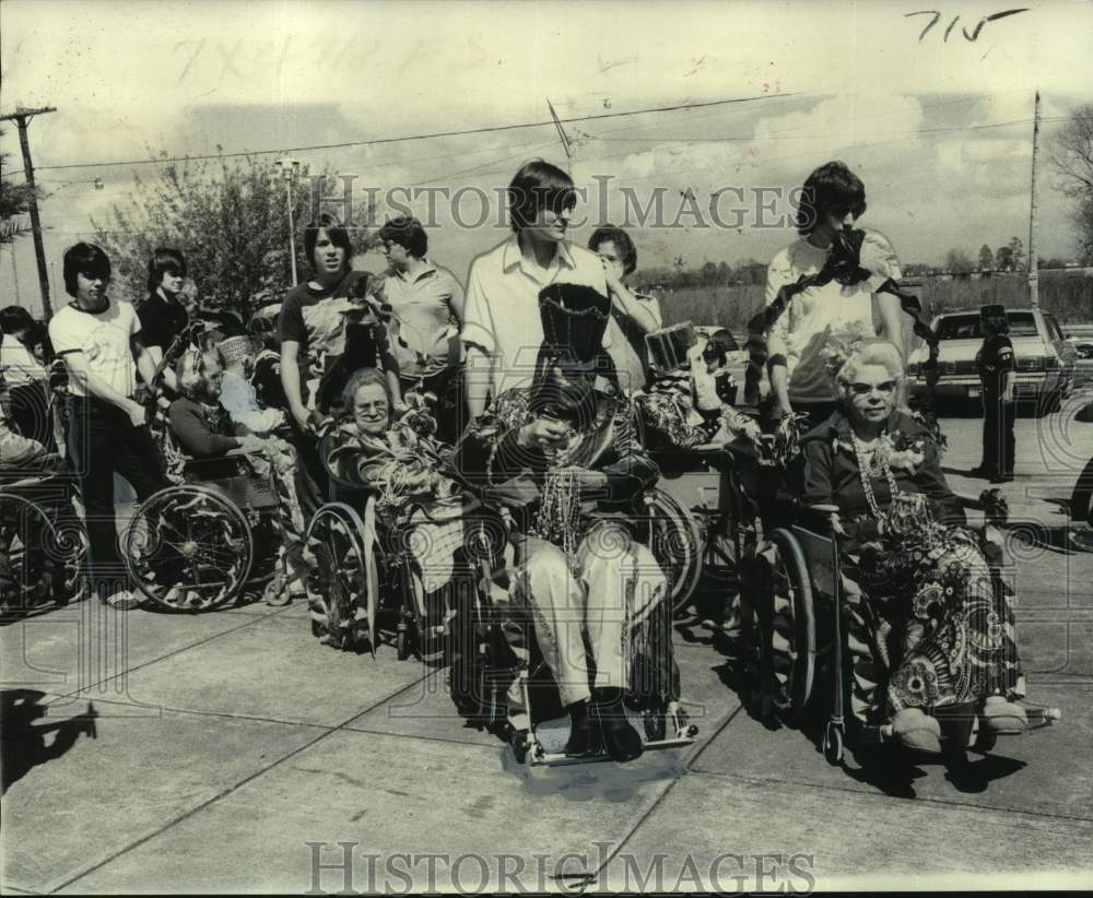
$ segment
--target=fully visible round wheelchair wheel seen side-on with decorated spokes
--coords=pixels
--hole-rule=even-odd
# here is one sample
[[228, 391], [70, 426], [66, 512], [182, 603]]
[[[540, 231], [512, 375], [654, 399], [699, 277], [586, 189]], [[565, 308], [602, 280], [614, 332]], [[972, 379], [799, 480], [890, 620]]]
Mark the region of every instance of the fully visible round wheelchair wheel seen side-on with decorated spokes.
[[238, 595], [254, 563], [239, 508], [208, 486], [168, 486], [129, 522], [126, 569], [145, 599], [171, 611], [205, 611]]

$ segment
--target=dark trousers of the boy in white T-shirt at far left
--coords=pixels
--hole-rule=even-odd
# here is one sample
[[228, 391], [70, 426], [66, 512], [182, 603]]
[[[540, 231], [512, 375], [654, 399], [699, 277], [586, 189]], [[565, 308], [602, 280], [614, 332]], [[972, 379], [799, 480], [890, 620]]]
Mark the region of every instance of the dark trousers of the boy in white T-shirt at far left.
[[[168, 486], [148, 426], [97, 399], [69, 397], [69, 459], [80, 480], [90, 543], [87, 579], [105, 596], [127, 589], [114, 518], [114, 475], [132, 486], [139, 501]], [[101, 598], [104, 598], [101, 595]]]

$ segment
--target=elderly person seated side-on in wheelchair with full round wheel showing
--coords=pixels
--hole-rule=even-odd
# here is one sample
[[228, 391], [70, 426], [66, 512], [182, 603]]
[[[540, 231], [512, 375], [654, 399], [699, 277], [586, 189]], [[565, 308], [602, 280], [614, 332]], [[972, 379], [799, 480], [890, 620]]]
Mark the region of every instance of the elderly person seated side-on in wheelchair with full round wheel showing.
[[305, 593], [295, 453], [275, 434], [257, 436], [248, 426], [252, 420], [237, 421], [220, 405], [221, 362], [215, 347], [179, 358], [179, 398], [163, 439], [165, 454], [180, 457], [183, 483], [141, 505], [126, 537], [134, 582], [163, 607], [212, 607], [256, 581], [265, 583], [270, 604]]

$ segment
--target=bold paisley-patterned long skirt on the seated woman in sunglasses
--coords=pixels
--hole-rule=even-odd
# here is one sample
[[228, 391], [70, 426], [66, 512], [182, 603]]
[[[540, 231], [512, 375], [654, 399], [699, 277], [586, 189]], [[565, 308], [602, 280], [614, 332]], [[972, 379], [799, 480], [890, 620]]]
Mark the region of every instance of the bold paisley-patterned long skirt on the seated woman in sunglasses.
[[930, 524], [863, 565], [872, 633], [892, 711], [1010, 695], [1021, 676], [1008, 590], [978, 540]]

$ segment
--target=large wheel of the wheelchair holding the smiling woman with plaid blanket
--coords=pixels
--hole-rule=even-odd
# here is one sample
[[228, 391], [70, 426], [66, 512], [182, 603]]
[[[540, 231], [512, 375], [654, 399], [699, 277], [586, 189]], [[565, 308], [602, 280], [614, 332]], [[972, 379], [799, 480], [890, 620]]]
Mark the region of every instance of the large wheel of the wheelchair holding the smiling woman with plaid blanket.
[[307, 533], [316, 564], [308, 572], [312, 633], [337, 649], [369, 643], [375, 651], [375, 544], [365, 545], [365, 524], [348, 505], [332, 503], [315, 512]]

